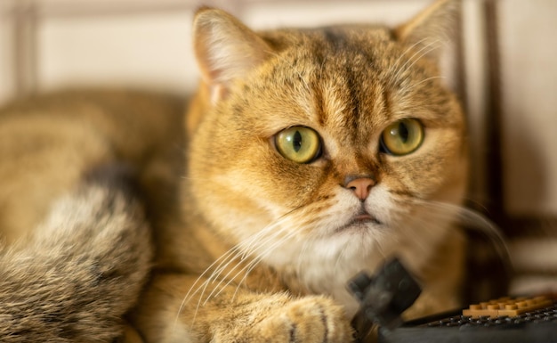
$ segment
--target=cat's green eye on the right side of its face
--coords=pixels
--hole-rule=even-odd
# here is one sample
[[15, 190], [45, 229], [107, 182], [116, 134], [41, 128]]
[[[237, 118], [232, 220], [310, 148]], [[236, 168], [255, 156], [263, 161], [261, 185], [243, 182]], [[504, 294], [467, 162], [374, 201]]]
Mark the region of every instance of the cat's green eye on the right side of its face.
[[416, 151], [424, 141], [424, 126], [417, 119], [405, 118], [383, 130], [381, 147], [383, 152], [394, 156], [408, 155]]

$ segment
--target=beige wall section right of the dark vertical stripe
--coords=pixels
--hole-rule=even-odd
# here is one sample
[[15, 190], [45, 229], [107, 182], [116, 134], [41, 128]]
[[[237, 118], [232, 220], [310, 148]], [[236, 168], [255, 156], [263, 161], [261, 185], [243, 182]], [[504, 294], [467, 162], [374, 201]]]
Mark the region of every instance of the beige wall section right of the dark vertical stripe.
[[505, 207], [557, 214], [557, 1], [507, 0], [499, 13]]

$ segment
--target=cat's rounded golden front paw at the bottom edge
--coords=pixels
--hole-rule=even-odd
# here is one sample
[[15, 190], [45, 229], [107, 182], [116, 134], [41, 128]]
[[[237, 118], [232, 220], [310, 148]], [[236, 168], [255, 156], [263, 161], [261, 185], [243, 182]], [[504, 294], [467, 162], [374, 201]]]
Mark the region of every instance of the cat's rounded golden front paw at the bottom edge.
[[[273, 309], [255, 323], [257, 342], [349, 343], [352, 329], [343, 307], [324, 297], [305, 297]], [[254, 337], [255, 338], [255, 337]]]

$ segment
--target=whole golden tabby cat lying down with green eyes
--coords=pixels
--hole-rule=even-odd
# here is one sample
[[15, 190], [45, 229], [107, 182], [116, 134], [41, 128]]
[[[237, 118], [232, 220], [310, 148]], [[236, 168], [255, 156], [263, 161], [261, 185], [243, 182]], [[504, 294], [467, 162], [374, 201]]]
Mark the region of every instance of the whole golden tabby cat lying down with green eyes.
[[424, 287], [408, 316], [456, 306], [467, 151], [437, 59], [457, 8], [261, 33], [201, 9], [186, 140], [163, 97], [4, 109], [0, 339], [110, 341], [134, 306], [130, 341], [348, 342], [346, 282], [394, 255]]

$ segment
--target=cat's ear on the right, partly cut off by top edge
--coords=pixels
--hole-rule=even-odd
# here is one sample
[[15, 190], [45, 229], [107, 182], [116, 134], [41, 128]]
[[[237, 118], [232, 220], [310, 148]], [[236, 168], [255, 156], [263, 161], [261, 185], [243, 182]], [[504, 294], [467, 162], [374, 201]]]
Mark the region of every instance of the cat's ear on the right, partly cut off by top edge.
[[441, 48], [454, 34], [460, 11], [460, 0], [438, 0], [394, 29], [394, 36], [406, 45], [415, 45], [416, 50], [433, 60], [439, 60]]

